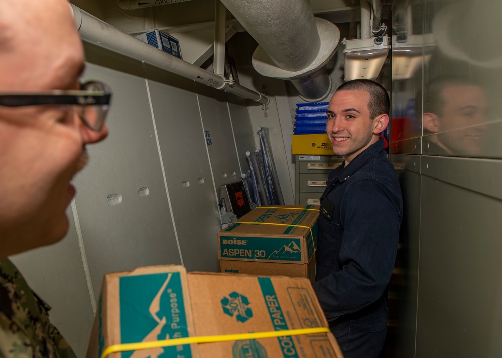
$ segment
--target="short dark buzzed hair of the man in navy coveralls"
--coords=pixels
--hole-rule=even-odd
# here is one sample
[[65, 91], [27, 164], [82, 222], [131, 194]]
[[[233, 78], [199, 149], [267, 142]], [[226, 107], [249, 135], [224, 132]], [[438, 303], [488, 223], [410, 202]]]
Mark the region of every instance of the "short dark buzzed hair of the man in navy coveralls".
[[375, 119], [381, 114], [389, 114], [391, 107], [387, 90], [379, 83], [366, 79], [356, 79], [342, 83], [338, 91], [365, 91], [369, 93], [369, 117]]

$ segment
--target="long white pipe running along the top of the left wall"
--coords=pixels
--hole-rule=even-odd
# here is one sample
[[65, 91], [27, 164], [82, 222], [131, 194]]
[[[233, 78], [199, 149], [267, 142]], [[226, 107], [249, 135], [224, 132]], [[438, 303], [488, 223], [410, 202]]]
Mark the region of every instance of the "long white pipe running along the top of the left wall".
[[123, 33], [75, 5], [69, 5], [80, 37], [87, 42], [141, 60], [150, 65], [194, 80], [195, 82], [219, 90], [226, 90], [227, 92], [249, 98], [261, 104], [269, 103], [269, 99], [258, 92], [228, 81], [221, 74], [206, 71], [164, 51], [160, 51], [131, 35]]

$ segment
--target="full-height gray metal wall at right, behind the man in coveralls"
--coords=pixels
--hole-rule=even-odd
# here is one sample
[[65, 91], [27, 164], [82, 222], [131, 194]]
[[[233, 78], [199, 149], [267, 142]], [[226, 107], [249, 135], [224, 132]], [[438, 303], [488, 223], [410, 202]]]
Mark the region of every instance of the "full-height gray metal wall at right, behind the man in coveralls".
[[[413, 36], [422, 37], [420, 50], [426, 55], [413, 76], [392, 82], [391, 159], [404, 198], [396, 272], [402, 290], [393, 349], [396, 356], [415, 358], [500, 357], [502, 51], [494, 39], [502, 36], [502, 3], [397, 1], [392, 10], [401, 39], [413, 44]], [[445, 75], [476, 83], [460, 87], [457, 97], [468, 94], [461, 103], [444, 100], [455, 103], [450, 112], [447, 107], [437, 112], [441, 122], [451, 108], [462, 109], [450, 117], [450, 128], [439, 130], [462, 153], [445, 154], [427, 144], [435, 135], [426, 131], [424, 108], [417, 101], [427, 98], [431, 80]], [[483, 101], [471, 100], [479, 98], [478, 87], [488, 99], [486, 112]]]

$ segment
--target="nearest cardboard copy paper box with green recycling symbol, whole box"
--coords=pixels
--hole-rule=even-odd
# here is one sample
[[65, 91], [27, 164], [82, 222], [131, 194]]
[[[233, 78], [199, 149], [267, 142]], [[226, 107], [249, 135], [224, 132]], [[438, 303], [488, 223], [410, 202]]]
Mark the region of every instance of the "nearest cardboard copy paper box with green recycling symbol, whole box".
[[[341, 358], [329, 330], [278, 333], [319, 327], [326, 328], [328, 323], [305, 278], [187, 274], [182, 266], [144, 267], [105, 275], [87, 357], [100, 357], [110, 345], [163, 340], [167, 335], [167, 339], [217, 337], [213, 342], [110, 356]], [[269, 337], [228, 338], [263, 332]], [[222, 341], [222, 337], [230, 340]]]

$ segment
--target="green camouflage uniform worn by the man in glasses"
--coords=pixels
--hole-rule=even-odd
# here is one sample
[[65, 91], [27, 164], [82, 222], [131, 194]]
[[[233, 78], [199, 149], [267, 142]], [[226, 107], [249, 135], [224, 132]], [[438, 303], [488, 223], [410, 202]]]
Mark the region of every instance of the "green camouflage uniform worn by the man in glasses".
[[0, 259], [0, 358], [75, 357], [49, 310], [12, 262]]

